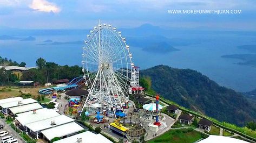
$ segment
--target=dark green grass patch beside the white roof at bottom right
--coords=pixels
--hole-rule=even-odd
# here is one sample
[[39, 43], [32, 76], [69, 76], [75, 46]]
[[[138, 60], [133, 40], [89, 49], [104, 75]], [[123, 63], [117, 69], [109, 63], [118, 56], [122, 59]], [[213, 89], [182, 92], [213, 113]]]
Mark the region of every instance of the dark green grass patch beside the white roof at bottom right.
[[154, 142], [173, 142], [173, 143], [182, 143], [182, 142], [195, 142], [201, 138], [207, 138], [208, 135], [200, 133], [193, 130], [192, 128], [184, 128], [178, 130], [169, 130], [166, 133], [156, 137], [152, 140], [149, 140], [148, 143]]

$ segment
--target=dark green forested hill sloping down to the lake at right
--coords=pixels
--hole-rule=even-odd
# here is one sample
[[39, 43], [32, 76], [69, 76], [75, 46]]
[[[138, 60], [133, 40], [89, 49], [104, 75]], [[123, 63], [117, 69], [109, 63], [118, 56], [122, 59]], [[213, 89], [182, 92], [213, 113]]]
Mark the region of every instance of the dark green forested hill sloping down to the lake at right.
[[256, 106], [242, 94], [221, 87], [195, 70], [160, 65], [140, 74], [144, 77], [141, 81], [150, 80], [154, 91], [186, 108], [239, 126], [256, 119]]

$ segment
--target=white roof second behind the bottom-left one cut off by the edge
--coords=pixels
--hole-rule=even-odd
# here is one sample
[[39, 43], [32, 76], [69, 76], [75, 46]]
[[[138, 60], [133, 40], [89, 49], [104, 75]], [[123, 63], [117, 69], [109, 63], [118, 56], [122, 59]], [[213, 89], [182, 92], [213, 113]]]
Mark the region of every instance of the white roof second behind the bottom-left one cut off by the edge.
[[[51, 121], [54, 121], [55, 125], [51, 125]], [[30, 130], [32, 130], [33, 132], [36, 132], [36, 131], [41, 131], [54, 126], [69, 123], [71, 121], [74, 121], [74, 119], [69, 118], [65, 115], [60, 115], [60, 116], [56, 116], [56, 117], [52, 117], [44, 120], [39, 120], [33, 123], [29, 123], [29, 124], [26, 124], [25, 126], [30, 128]]]

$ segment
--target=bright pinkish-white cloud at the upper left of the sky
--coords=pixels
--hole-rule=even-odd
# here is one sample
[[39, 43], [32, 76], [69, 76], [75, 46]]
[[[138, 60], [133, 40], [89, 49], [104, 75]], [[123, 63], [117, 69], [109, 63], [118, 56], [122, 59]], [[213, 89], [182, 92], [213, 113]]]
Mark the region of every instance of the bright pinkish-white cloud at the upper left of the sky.
[[46, 0], [33, 0], [32, 3], [29, 5], [29, 8], [42, 12], [58, 13], [61, 11], [61, 9], [57, 5], [55, 5], [54, 3], [50, 3]]

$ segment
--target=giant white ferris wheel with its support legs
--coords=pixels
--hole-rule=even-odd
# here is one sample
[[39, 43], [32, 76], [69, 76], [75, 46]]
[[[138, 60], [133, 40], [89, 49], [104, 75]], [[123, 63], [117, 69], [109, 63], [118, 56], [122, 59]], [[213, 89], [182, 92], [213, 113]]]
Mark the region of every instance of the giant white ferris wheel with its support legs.
[[126, 38], [116, 27], [99, 23], [90, 30], [84, 43], [82, 71], [89, 94], [83, 108], [98, 106], [101, 112], [122, 109], [132, 92], [134, 67]]

